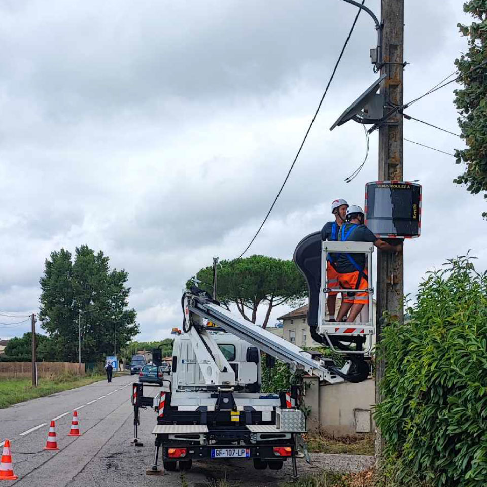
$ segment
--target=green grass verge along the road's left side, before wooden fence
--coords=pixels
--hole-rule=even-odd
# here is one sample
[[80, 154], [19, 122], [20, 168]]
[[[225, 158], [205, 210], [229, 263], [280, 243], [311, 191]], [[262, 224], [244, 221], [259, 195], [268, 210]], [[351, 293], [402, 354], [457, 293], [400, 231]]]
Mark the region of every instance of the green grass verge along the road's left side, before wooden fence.
[[103, 378], [103, 375], [78, 377], [66, 374], [52, 379], [39, 379], [37, 388], [32, 387], [30, 379], [0, 380], [0, 409], [55, 392], [86, 386]]

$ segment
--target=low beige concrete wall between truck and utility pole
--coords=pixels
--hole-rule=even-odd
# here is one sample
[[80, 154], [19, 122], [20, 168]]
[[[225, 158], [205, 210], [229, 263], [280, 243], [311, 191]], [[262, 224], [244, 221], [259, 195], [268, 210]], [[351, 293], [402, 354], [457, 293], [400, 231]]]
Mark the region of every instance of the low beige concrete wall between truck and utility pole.
[[306, 421], [308, 431], [330, 436], [355, 435], [375, 430], [372, 408], [375, 404], [375, 381], [360, 384], [319, 384], [306, 377], [303, 402], [311, 408]]

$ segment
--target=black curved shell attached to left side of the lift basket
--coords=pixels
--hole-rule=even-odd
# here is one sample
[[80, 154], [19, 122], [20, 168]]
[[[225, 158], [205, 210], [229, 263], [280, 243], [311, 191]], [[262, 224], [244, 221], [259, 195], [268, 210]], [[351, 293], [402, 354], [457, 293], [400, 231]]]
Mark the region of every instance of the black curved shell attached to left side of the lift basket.
[[308, 325], [318, 326], [318, 304], [321, 291], [321, 232], [304, 237], [294, 251], [293, 260], [304, 275], [308, 285]]

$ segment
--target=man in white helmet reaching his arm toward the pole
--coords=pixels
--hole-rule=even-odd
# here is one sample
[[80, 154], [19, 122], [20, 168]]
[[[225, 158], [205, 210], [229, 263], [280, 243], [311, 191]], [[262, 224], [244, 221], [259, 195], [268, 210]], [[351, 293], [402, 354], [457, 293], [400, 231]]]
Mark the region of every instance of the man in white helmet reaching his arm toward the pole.
[[[364, 212], [360, 206], [352, 205], [346, 211], [346, 223], [344, 223], [338, 234], [338, 241], [341, 242], [373, 242], [375, 247], [386, 252], [399, 252], [402, 243], [390, 245], [389, 243], [377, 238], [364, 225]], [[343, 289], [360, 289], [360, 293], [346, 293], [342, 300], [337, 321], [353, 322], [360, 311], [367, 304], [368, 276], [366, 269], [366, 254], [340, 253], [335, 264], [338, 271], [338, 282]], [[348, 316], [347, 316], [348, 313]]]

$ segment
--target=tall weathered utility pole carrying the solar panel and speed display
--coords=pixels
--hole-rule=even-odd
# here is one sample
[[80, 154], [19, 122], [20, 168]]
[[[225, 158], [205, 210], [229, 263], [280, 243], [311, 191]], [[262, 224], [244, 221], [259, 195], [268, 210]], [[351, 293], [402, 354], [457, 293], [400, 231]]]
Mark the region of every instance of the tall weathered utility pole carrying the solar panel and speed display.
[[[386, 73], [380, 90], [384, 93], [384, 113], [392, 106], [403, 103], [404, 62], [404, 0], [381, 0], [383, 25], [383, 58], [381, 74]], [[391, 104], [391, 105], [390, 105]], [[379, 129], [379, 181], [403, 180], [403, 118], [399, 113], [391, 116]], [[377, 256], [377, 343], [382, 335], [382, 314], [389, 311], [402, 322], [404, 296], [404, 260], [391, 252], [378, 251]], [[385, 362], [376, 363], [375, 401], [381, 402], [380, 381], [384, 376]], [[375, 454], [379, 460], [384, 441], [377, 430]]]

